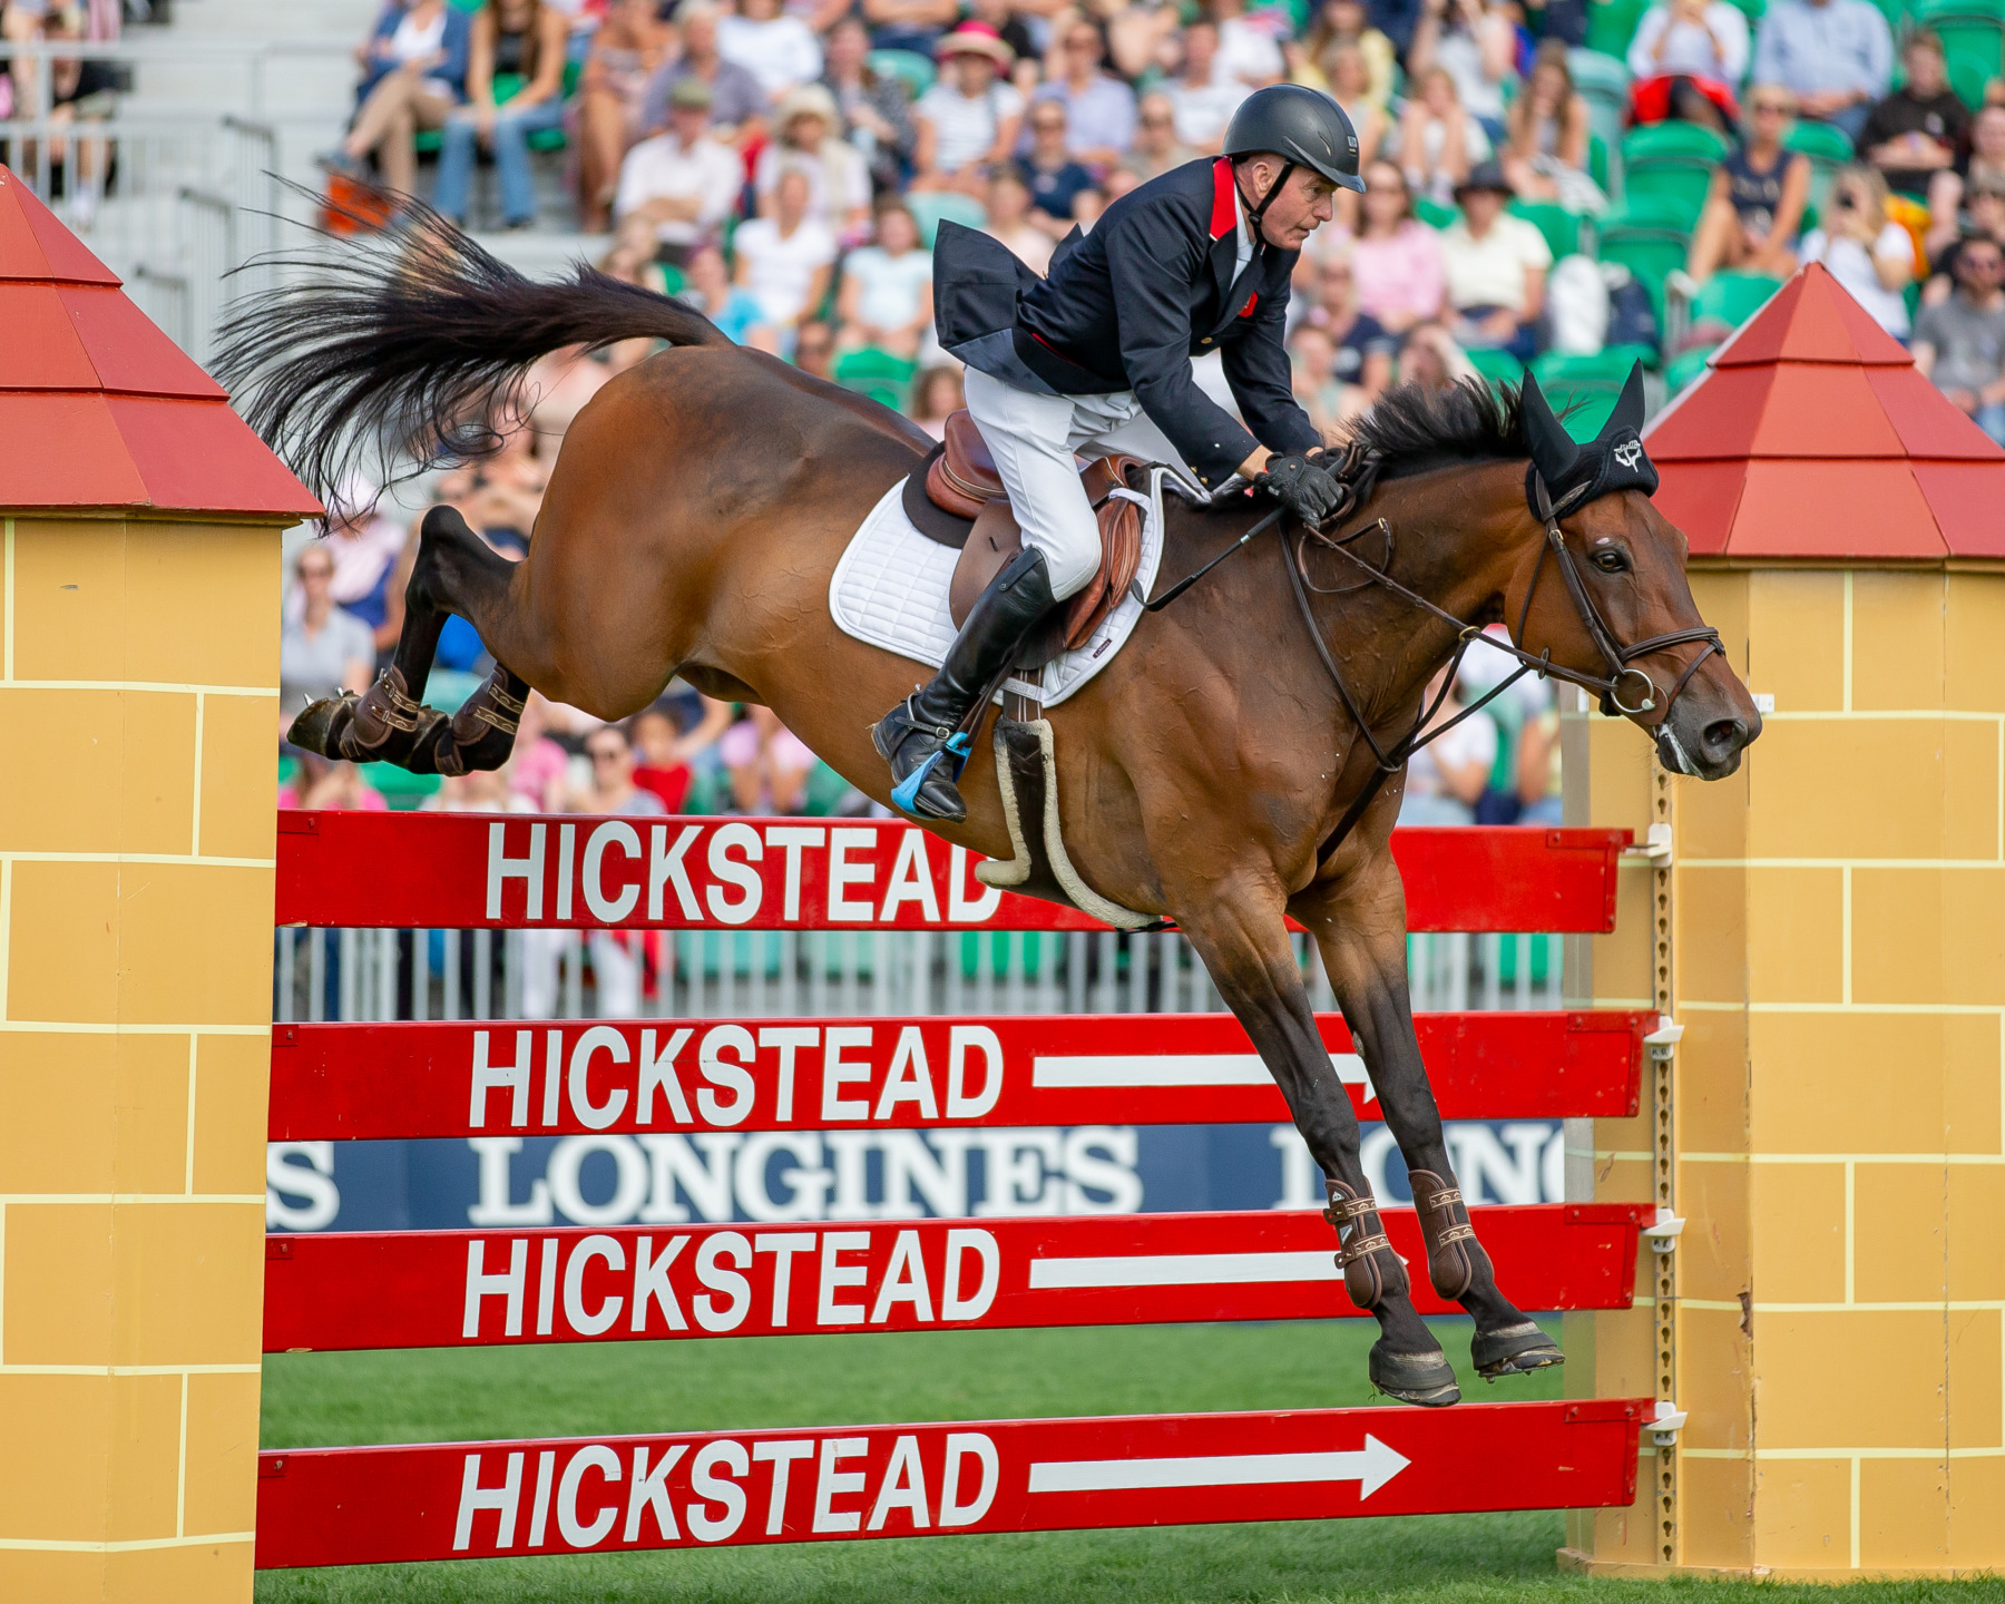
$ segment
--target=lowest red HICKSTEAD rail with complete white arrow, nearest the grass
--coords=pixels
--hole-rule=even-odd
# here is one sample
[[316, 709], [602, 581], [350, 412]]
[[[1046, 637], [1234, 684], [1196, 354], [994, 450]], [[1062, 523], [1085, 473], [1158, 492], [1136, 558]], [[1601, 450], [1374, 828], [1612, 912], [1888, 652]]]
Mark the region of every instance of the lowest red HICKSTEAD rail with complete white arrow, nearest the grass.
[[311, 1448], [257, 1566], [1063, 1532], [1636, 1498], [1642, 1397]]

